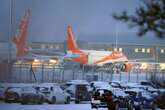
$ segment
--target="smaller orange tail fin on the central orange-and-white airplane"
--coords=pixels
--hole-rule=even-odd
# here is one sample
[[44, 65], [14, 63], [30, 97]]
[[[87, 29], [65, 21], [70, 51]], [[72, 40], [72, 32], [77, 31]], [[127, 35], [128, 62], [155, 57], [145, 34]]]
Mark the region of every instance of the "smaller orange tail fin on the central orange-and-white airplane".
[[68, 25], [67, 27], [67, 36], [67, 49], [73, 53], [79, 53], [80, 49], [77, 46], [71, 25]]

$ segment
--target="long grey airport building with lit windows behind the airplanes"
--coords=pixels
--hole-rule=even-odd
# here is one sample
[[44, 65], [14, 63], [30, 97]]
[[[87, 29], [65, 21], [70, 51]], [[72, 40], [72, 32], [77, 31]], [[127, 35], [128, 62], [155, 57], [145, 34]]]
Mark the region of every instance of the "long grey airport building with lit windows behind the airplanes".
[[[165, 62], [165, 46], [163, 45], [145, 45], [145, 44], [118, 44], [104, 42], [84, 42], [78, 41], [78, 46], [83, 50], [105, 50], [105, 51], [122, 51], [128, 59], [150, 59], [152, 62]], [[54, 49], [65, 52], [67, 43], [64, 42], [32, 42], [30, 45], [34, 49]]]

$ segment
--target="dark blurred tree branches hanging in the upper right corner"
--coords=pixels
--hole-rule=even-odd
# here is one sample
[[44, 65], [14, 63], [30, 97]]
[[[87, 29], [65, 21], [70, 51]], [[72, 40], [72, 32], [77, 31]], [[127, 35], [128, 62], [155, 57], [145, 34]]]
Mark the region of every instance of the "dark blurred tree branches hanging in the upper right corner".
[[153, 32], [156, 37], [165, 37], [165, 0], [142, 0], [143, 5], [136, 8], [134, 15], [127, 11], [112, 16], [116, 20], [127, 22], [130, 27], [139, 27], [137, 34]]

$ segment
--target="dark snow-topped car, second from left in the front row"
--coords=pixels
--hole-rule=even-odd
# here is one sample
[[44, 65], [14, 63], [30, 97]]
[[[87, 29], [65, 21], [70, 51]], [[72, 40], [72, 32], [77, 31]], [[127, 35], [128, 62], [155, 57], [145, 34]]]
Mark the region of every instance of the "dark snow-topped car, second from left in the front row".
[[44, 102], [44, 95], [34, 87], [23, 87], [21, 94], [21, 104], [37, 103], [42, 104]]

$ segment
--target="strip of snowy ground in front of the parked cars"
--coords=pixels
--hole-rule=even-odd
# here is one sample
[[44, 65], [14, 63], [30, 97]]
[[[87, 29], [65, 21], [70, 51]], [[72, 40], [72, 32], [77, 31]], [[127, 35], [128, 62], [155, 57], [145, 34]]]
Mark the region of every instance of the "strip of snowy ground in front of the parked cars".
[[[95, 110], [90, 104], [56, 104], [56, 105], [21, 105], [21, 104], [0, 104], [0, 110]], [[100, 108], [98, 110], [107, 110]]]

